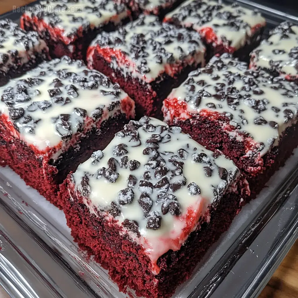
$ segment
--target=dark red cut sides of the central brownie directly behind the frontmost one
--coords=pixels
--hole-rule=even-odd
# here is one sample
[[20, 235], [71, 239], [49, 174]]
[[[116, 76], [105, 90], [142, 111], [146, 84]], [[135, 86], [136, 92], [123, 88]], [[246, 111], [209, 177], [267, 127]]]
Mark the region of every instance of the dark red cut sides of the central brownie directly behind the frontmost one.
[[[136, 119], [142, 116], [152, 116], [158, 119], [162, 118], [162, 101], [167, 97], [173, 88], [179, 86], [187, 75], [194, 70], [197, 65], [187, 65], [175, 77], [171, 77], [163, 73], [159, 78], [148, 85], [132, 77], [131, 75], [124, 75], [121, 70], [114, 70], [110, 64], [100, 55], [95, 47], [88, 49], [88, 63], [89, 68], [96, 69], [108, 76], [113, 83], [118, 83], [135, 102], [136, 105]], [[159, 83], [156, 83], [159, 82]]]

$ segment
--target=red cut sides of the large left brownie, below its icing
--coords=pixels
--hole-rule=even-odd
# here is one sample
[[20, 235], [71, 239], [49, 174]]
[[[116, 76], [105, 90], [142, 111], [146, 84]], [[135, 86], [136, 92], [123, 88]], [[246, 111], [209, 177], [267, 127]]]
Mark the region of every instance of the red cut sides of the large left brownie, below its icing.
[[62, 209], [63, 201], [57, 197], [59, 184], [70, 171], [76, 170], [80, 163], [85, 162], [94, 150], [103, 150], [114, 138], [114, 134], [128, 121], [125, 114], [118, 114], [103, 121], [100, 131], [104, 133], [98, 134], [95, 129], [89, 131], [75, 146], [61, 154], [58, 161], [50, 160], [48, 164], [37, 158], [27, 144], [3, 129], [0, 121], [0, 165], [9, 166], [27, 185], [38, 190], [48, 201]]

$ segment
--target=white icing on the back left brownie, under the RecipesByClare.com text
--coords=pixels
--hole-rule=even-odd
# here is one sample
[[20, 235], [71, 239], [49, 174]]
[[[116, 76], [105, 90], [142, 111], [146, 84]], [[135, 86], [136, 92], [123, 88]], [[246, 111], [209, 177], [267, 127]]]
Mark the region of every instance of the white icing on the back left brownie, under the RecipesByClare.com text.
[[63, 36], [74, 35], [81, 27], [98, 28], [109, 21], [118, 24], [128, 16], [125, 5], [113, 0], [47, 0], [40, 1], [36, 7], [37, 17], [52, 27], [60, 28]]

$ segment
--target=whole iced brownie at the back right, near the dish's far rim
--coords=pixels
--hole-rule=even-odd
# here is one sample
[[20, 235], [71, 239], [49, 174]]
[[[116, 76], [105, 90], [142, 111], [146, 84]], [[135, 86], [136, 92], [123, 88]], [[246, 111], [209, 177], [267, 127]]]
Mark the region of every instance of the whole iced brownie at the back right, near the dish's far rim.
[[258, 11], [213, 0], [188, 0], [168, 13], [164, 21], [198, 31], [212, 55], [234, 53], [256, 44], [266, 24]]

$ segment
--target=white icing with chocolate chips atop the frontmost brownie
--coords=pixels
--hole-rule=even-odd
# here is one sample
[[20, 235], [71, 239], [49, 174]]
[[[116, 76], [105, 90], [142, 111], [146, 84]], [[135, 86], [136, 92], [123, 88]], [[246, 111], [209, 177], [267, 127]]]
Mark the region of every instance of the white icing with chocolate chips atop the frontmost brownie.
[[[180, 249], [199, 218], [206, 215], [208, 221], [209, 204], [235, 187], [239, 171], [232, 161], [214, 157], [180, 128], [169, 129], [148, 117], [140, 122], [126, 125], [105, 150], [80, 164], [73, 178], [90, 212], [103, 212], [107, 218], [112, 214], [154, 265], [169, 249]], [[161, 183], [163, 179], [166, 182]], [[156, 187], [158, 182], [163, 187]], [[125, 225], [127, 220], [130, 225]], [[153, 266], [153, 272], [157, 274], [158, 268]]]

